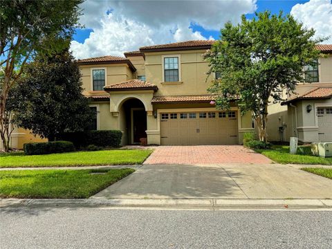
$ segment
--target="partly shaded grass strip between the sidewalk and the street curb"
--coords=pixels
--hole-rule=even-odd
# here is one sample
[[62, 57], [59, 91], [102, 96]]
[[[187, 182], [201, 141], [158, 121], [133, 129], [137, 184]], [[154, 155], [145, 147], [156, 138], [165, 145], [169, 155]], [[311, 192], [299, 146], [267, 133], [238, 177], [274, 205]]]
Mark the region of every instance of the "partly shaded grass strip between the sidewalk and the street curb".
[[132, 172], [134, 169], [4, 170], [0, 171], [0, 197], [88, 198]]

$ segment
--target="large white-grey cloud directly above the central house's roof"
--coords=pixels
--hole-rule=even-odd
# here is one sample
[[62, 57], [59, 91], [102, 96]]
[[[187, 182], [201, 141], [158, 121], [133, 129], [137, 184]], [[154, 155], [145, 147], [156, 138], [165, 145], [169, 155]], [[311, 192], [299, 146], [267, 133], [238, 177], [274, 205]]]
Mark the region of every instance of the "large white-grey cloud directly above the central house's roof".
[[[83, 44], [73, 41], [77, 58], [122, 55], [140, 46], [212, 39], [190, 28], [199, 24], [219, 30], [226, 21], [236, 23], [242, 14], [254, 12], [256, 0], [221, 1], [85, 1], [80, 21], [92, 28]], [[107, 10], [111, 13], [107, 15]]]

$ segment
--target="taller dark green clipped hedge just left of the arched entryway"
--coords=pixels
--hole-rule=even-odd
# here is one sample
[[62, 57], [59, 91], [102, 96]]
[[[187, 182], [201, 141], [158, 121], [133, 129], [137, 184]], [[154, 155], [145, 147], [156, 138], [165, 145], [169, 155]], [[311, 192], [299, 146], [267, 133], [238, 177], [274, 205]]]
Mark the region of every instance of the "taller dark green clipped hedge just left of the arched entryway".
[[120, 147], [121, 131], [77, 131], [65, 132], [57, 136], [59, 140], [71, 141], [77, 148], [95, 145], [100, 147]]

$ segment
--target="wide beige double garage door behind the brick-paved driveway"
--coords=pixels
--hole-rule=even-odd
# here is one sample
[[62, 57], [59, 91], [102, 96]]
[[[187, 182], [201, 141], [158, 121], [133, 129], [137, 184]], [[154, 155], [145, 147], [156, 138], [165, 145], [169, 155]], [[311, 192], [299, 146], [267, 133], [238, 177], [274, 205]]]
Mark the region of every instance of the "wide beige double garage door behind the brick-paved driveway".
[[161, 145], [236, 145], [237, 111], [160, 113]]

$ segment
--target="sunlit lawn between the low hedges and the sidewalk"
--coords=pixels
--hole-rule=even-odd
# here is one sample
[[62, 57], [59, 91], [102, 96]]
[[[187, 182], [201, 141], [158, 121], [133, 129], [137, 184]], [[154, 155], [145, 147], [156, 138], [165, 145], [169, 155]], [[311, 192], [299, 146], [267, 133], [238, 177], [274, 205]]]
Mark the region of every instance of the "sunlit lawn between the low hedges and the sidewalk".
[[36, 156], [2, 154], [0, 156], [0, 167], [134, 165], [143, 163], [151, 153], [152, 150], [150, 149], [113, 149], [103, 151], [77, 151]]

